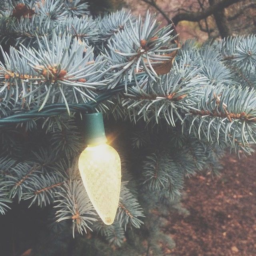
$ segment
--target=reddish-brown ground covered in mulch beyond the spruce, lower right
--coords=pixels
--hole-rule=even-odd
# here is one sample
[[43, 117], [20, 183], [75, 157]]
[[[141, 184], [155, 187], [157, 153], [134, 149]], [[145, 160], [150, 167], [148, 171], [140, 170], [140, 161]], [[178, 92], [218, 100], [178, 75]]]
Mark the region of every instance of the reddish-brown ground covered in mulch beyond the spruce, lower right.
[[176, 247], [166, 256], [256, 256], [256, 155], [222, 162], [220, 177], [187, 180], [190, 216], [170, 217]]

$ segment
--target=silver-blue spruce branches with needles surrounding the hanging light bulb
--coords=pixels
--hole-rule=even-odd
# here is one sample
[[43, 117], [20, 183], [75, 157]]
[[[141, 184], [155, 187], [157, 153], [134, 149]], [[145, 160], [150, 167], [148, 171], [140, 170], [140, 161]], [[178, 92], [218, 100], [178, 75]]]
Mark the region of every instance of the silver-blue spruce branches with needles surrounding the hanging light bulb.
[[[26, 14], [19, 15], [18, 4]], [[52, 204], [58, 222], [72, 221], [73, 236], [94, 230], [114, 246], [146, 227], [161, 255], [159, 241], [173, 241], [160, 233], [154, 209], [178, 207], [185, 177], [218, 174], [226, 148], [253, 151], [255, 35], [180, 47], [174, 27], [161, 27], [149, 12], [92, 18], [79, 0], [3, 1], [0, 34], [0, 124], [20, 115], [0, 126], [1, 214], [15, 197]], [[116, 88], [122, 90], [113, 94]], [[111, 98], [101, 101], [102, 94]], [[116, 129], [125, 134], [123, 180], [111, 226], [97, 218], [78, 172], [85, 145], [79, 112], [70, 106], [88, 102], [104, 112], [109, 129], [113, 119], [125, 124]], [[50, 104], [64, 104], [66, 113], [40, 116]], [[32, 113], [28, 122], [24, 113]]]

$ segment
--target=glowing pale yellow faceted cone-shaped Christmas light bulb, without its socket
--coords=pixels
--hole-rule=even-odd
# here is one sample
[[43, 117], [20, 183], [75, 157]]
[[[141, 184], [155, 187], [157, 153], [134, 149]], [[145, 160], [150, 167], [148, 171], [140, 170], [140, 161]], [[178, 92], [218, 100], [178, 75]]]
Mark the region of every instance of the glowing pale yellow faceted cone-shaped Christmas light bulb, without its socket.
[[114, 148], [106, 143], [88, 145], [78, 160], [86, 192], [102, 221], [114, 222], [121, 187], [121, 161]]

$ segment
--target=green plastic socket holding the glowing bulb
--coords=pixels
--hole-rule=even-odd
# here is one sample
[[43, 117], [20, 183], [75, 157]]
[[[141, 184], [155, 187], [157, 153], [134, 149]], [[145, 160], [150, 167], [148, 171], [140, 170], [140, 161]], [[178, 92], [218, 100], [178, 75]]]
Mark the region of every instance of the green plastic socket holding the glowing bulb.
[[107, 141], [102, 113], [84, 114], [86, 143], [97, 145]]

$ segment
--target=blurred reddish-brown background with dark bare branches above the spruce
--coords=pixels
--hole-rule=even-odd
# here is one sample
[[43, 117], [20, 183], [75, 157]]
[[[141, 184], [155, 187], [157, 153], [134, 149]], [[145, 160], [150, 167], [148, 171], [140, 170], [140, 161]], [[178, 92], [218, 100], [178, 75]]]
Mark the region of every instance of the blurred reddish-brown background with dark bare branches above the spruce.
[[[127, 8], [144, 16], [157, 13], [163, 26], [174, 21], [181, 40], [198, 42], [256, 33], [256, 0], [90, 0], [92, 12]], [[192, 21], [192, 20], [196, 21]]]

